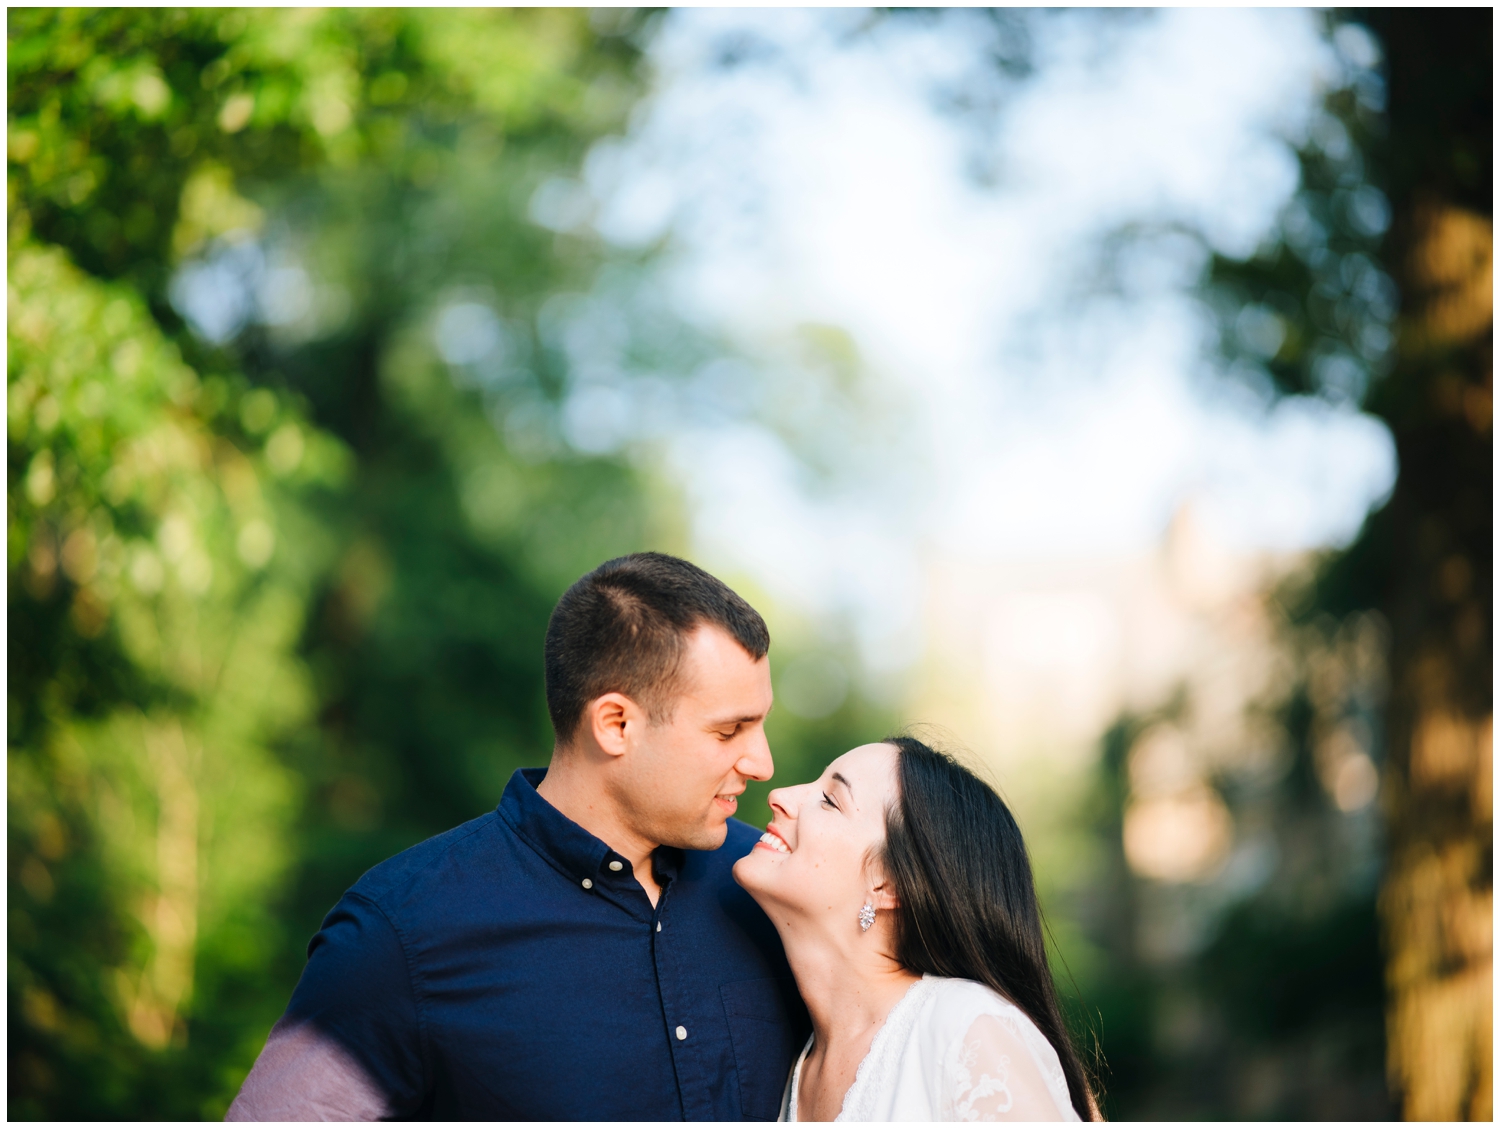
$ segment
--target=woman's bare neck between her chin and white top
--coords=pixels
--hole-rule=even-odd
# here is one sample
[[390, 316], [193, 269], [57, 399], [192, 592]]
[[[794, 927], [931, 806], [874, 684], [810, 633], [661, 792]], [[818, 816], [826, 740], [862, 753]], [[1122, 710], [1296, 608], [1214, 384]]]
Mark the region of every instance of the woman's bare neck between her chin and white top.
[[906, 990], [921, 979], [891, 955], [890, 931], [876, 924], [868, 933], [830, 936], [818, 922], [772, 915], [796, 978], [796, 990], [813, 1020], [819, 1051], [860, 1048], [860, 1057]]

